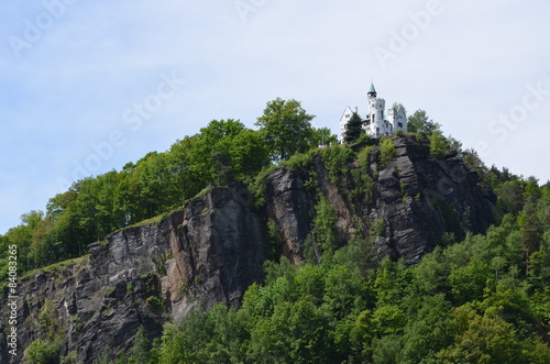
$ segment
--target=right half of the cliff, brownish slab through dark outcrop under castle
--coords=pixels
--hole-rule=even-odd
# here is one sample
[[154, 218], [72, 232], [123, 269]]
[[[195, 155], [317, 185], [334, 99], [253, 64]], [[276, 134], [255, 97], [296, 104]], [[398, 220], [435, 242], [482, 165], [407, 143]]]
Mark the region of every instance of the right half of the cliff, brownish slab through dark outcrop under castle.
[[[337, 180], [340, 186], [320, 155], [310, 167], [288, 170], [282, 166], [267, 178], [266, 214], [275, 221], [283, 253], [290, 262], [304, 258], [319, 191], [334, 210], [341, 243], [378, 224], [383, 228], [376, 236], [378, 256], [404, 257], [408, 264], [441, 244], [446, 232], [460, 240], [466, 231], [483, 233], [494, 222], [494, 195], [480, 186], [476, 174], [455, 154], [449, 151], [436, 159], [426, 144], [405, 136], [395, 137], [394, 144], [395, 158], [386, 166], [380, 165], [381, 152], [375, 147], [369, 168], [351, 163], [349, 175]], [[372, 180], [371, 198], [359, 205], [351, 197], [361, 184], [352, 177], [358, 173]], [[305, 187], [312, 176], [317, 189]]]

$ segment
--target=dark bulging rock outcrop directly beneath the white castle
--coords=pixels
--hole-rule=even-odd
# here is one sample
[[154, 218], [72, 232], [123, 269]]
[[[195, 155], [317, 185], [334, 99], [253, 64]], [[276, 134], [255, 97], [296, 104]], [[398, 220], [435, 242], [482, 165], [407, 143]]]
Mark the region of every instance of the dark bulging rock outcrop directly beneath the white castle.
[[377, 242], [380, 255], [414, 264], [441, 243], [443, 233], [461, 240], [466, 231], [483, 233], [494, 222], [496, 197], [453, 152], [436, 159], [427, 145], [410, 139], [396, 139], [395, 145], [394, 163], [375, 178], [376, 202], [370, 211], [386, 227]]

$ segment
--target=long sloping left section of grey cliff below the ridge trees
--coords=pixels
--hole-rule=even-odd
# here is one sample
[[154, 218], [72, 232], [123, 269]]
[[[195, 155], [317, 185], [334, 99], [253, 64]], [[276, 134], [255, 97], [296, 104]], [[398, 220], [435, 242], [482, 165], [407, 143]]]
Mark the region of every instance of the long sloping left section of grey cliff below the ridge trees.
[[[103, 350], [129, 352], [140, 326], [151, 338], [193, 307], [238, 307], [263, 278], [265, 234], [242, 185], [213, 188], [158, 224], [127, 228], [90, 245], [90, 255], [20, 280], [18, 356], [0, 322], [0, 363], [19, 363], [36, 340], [61, 342], [92, 363]], [[2, 307], [8, 300], [3, 289]], [[52, 330], [53, 329], [53, 330]]]

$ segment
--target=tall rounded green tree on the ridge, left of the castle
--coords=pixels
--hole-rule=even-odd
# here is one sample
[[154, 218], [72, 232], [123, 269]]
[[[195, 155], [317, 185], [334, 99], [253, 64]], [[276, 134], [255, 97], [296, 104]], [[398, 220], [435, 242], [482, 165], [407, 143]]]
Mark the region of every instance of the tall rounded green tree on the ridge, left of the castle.
[[304, 153], [311, 146], [315, 115], [306, 113], [299, 101], [276, 98], [267, 102], [264, 114], [257, 118], [263, 140], [275, 161], [287, 159], [295, 153]]

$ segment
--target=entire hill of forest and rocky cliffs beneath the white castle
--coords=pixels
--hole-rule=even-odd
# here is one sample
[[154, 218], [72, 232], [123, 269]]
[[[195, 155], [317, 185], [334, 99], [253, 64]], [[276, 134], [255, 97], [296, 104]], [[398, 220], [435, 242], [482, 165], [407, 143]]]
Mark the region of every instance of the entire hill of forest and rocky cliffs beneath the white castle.
[[28, 252], [0, 362], [550, 362], [549, 185], [438, 131], [270, 156], [262, 130], [215, 121], [0, 236]]

